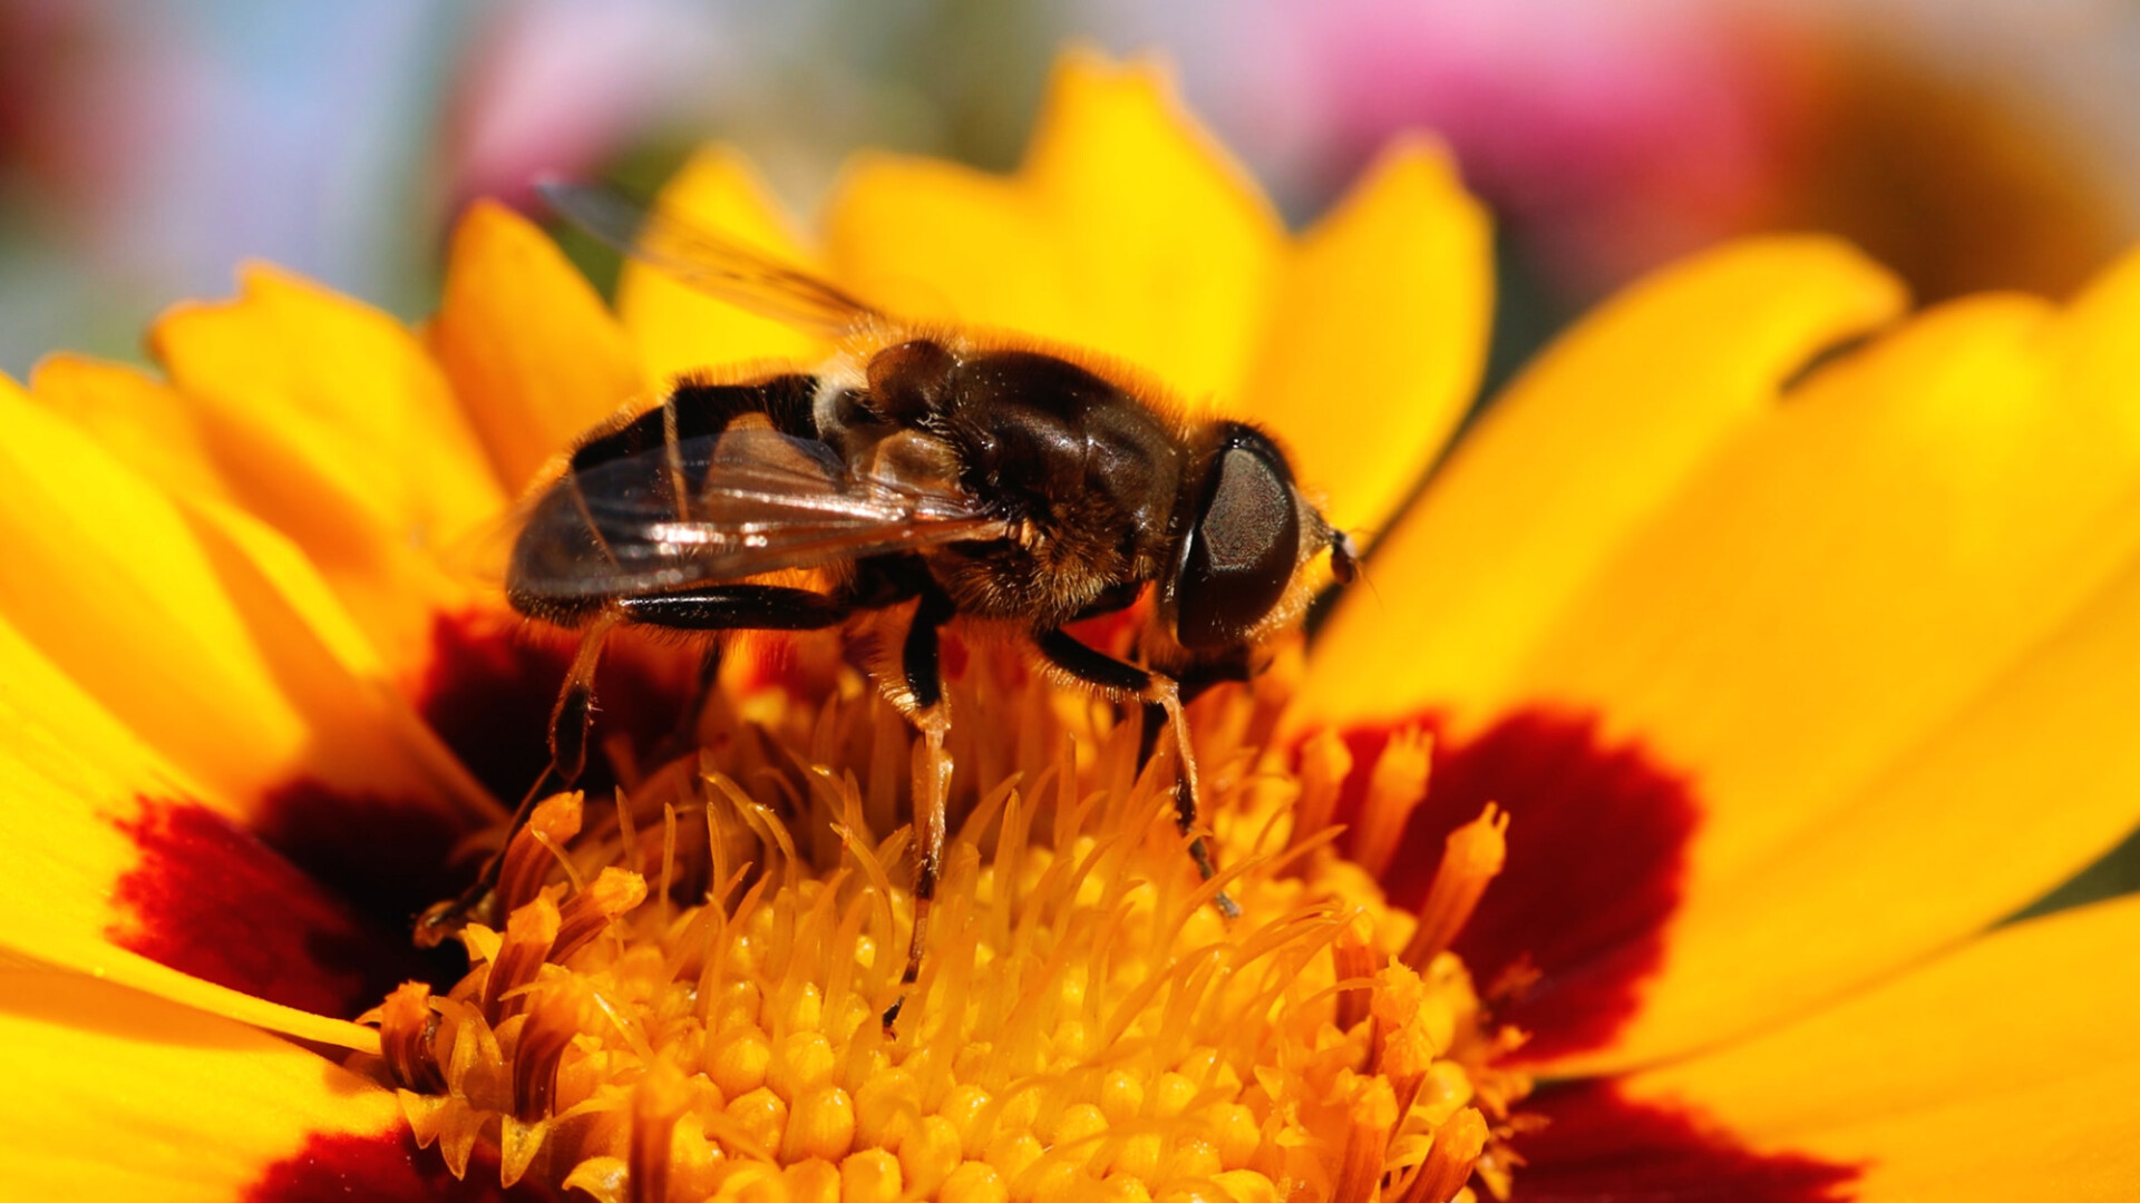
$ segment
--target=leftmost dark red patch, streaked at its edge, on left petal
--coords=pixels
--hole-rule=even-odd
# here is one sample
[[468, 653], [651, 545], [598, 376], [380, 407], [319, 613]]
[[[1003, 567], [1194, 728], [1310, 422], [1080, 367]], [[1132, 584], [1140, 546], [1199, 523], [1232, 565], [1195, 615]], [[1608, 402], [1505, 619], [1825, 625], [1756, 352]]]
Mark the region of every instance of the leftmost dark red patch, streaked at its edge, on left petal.
[[107, 938], [255, 998], [353, 1019], [428, 976], [407, 929], [366, 920], [259, 837], [190, 801], [141, 798], [118, 822], [141, 861], [113, 886]]

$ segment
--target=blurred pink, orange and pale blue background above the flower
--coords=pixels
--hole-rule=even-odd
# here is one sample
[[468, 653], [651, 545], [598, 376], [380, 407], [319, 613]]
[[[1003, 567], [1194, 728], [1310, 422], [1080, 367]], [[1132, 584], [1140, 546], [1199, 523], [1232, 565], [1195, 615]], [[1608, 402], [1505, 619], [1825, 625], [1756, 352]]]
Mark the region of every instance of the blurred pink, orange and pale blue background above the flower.
[[[1736, 233], [1924, 300], [2140, 242], [2134, 0], [0, 0], [0, 370], [137, 360], [246, 257], [422, 317], [456, 210], [544, 169], [653, 188], [725, 139], [798, 212], [860, 146], [1008, 169], [1070, 39], [1171, 58], [1295, 223], [1444, 137], [1498, 216], [1494, 379]], [[2114, 886], [2140, 850], [2074, 890]]]

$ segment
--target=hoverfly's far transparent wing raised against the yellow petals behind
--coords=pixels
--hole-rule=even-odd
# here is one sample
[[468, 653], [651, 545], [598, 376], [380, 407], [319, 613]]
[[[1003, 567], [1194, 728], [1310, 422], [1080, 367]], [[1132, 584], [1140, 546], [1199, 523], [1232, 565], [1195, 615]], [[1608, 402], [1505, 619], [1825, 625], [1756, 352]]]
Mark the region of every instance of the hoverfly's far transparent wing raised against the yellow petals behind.
[[599, 184], [544, 180], [541, 199], [580, 229], [702, 293], [820, 334], [847, 334], [884, 315], [760, 250]]

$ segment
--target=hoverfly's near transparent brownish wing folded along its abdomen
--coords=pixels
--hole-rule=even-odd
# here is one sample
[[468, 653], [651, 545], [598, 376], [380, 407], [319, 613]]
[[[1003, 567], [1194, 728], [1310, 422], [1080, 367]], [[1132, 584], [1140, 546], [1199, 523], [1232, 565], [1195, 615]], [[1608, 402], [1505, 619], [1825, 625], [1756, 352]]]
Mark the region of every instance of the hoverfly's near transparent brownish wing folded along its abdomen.
[[963, 492], [858, 477], [817, 441], [728, 430], [561, 479], [520, 531], [511, 580], [541, 597], [659, 593], [1004, 533]]

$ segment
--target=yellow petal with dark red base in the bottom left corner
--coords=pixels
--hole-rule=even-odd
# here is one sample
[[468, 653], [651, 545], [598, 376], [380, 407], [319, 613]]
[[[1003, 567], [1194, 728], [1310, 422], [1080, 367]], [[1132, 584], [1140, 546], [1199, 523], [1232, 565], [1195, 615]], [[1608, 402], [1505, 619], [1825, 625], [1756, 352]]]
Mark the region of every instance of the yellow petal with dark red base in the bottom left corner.
[[270, 1186], [325, 1197], [428, 1177], [407, 1158], [413, 1141], [389, 1092], [111, 983], [0, 970], [0, 1049], [6, 1199], [220, 1203]]

